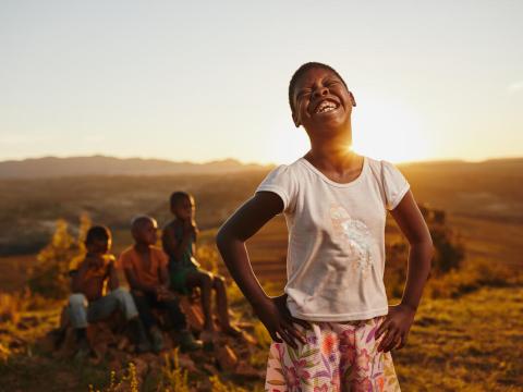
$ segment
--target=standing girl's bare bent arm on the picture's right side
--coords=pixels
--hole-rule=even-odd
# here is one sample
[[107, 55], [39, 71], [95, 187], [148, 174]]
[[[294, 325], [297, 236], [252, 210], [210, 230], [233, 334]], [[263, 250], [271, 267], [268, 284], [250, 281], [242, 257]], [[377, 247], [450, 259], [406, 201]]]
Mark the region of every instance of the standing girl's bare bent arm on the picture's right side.
[[390, 213], [409, 241], [410, 247], [403, 297], [399, 305], [389, 307], [387, 318], [376, 332], [376, 339], [386, 332], [378, 347], [384, 352], [405, 345], [423, 289], [430, 273], [430, 260], [434, 256], [430, 232], [411, 191]]

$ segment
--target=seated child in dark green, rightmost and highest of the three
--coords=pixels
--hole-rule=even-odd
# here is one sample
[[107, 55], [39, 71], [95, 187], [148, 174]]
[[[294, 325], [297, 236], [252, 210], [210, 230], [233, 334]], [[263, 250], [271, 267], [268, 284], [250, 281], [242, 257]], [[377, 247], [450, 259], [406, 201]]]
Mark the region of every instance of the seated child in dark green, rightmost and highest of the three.
[[229, 320], [224, 278], [200, 269], [199, 262], [194, 258], [197, 235], [194, 198], [184, 192], [174, 192], [170, 205], [174, 220], [163, 229], [162, 245], [169, 255], [171, 289], [182, 294], [191, 294], [194, 287], [200, 289], [205, 316], [204, 341], [209, 341], [214, 333], [211, 290], [216, 291], [216, 306], [222, 331], [233, 336], [241, 335], [241, 330]]

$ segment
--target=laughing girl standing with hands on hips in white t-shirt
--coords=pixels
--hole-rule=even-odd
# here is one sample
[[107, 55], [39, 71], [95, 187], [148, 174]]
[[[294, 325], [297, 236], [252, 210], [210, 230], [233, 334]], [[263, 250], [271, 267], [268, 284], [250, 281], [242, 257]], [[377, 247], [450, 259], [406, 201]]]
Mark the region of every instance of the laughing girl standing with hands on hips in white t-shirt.
[[[390, 351], [405, 345], [430, 270], [427, 225], [402, 173], [351, 149], [356, 102], [338, 72], [302, 65], [289, 103], [311, 150], [273, 169], [217, 235], [231, 275], [272, 338], [265, 390], [399, 391]], [[404, 293], [392, 306], [384, 285], [388, 210], [410, 243]], [[245, 242], [281, 212], [288, 282], [283, 295], [269, 297]]]

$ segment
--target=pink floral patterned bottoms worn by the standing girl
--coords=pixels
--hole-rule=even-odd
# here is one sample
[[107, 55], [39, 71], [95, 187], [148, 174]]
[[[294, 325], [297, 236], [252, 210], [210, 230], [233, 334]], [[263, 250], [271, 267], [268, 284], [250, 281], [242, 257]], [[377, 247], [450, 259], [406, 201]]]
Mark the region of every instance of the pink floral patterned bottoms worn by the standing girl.
[[[267, 362], [266, 392], [400, 391], [390, 352], [375, 340], [385, 316], [348, 322], [294, 324], [307, 339], [297, 348], [272, 342]], [[385, 336], [385, 334], [382, 335]], [[381, 338], [382, 338], [381, 336]]]

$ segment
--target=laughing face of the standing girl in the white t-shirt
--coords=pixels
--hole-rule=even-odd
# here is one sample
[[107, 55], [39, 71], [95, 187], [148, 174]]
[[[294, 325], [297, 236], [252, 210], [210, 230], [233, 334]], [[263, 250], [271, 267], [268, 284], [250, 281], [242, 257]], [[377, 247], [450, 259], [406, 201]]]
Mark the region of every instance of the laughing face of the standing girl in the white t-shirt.
[[315, 68], [304, 73], [293, 91], [296, 126], [307, 132], [339, 130], [350, 123], [352, 107], [356, 106], [352, 93], [330, 70]]

